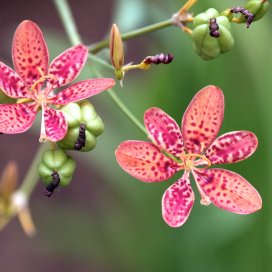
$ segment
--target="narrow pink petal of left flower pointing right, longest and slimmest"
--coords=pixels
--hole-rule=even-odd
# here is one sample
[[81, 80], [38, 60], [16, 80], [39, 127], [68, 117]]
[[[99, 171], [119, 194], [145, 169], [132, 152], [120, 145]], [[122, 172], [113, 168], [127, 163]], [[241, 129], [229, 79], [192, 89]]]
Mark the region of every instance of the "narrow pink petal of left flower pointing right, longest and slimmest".
[[111, 88], [114, 84], [115, 82], [112, 78], [96, 78], [80, 81], [51, 97], [49, 101], [56, 105], [66, 105], [70, 102], [94, 96]]

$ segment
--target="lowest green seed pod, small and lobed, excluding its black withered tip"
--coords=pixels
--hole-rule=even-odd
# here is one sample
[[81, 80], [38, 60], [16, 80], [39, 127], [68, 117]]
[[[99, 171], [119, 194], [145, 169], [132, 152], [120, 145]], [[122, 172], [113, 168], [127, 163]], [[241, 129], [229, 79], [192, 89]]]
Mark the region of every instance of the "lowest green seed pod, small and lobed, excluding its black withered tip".
[[52, 183], [54, 172], [59, 176], [59, 185], [67, 186], [71, 182], [75, 168], [74, 159], [68, 156], [65, 151], [61, 149], [46, 150], [38, 165], [38, 173], [46, 186]]

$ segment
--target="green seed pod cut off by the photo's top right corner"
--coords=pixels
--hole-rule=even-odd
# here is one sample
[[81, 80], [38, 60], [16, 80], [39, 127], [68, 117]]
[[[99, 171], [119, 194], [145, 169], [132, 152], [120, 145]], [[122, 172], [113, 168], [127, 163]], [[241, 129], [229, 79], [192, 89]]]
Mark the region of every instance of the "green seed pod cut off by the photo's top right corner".
[[[250, 0], [246, 3], [244, 8], [254, 15], [253, 22], [255, 22], [266, 14], [269, 8], [269, 2], [266, 0]], [[240, 22], [246, 22], [246, 18], [243, 15], [240, 17]]]

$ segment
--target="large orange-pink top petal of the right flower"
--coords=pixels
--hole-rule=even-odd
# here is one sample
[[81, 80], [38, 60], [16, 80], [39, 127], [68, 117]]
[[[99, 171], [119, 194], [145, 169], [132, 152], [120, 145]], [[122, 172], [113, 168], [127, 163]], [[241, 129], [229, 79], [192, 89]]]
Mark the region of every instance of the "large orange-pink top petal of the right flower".
[[224, 95], [216, 86], [201, 89], [182, 119], [182, 135], [189, 153], [202, 153], [215, 140], [224, 117]]

